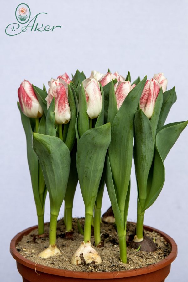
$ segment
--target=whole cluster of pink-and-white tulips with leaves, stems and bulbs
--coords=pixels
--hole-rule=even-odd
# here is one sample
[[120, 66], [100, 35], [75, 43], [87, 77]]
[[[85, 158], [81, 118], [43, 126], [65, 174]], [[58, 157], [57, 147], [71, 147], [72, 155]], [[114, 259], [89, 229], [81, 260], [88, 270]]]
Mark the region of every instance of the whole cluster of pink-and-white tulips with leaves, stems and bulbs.
[[[136, 232], [133, 247], [146, 250], [144, 213], [159, 196], [165, 182], [164, 161], [185, 122], [165, 124], [176, 101], [175, 87], [166, 91], [163, 73], [131, 83], [108, 70], [91, 76], [76, 71], [48, 82], [46, 91], [23, 81], [18, 89], [18, 108], [27, 140], [27, 157], [38, 216], [38, 233], [44, 233], [44, 204], [50, 197], [49, 247], [39, 253], [60, 255], [56, 227], [62, 202], [64, 222], [72, 230], [73, 198], [79, 181], [85, 205], [83, 242], [71, 264], [101, 263], [91, 246], [91, 225], [99, 246], [101, 206], [106, 183], [117, 226], [120, 258], [127, 263], [126, 223], [130, 196], [132, 159], [138, 190]], [[134, 187], [133, 187], [134, 189]], [[147, 244], [145, 244], [147, 242]], [[151, 244], [151, 242], [150, 242]], [[152, 241], [152, 244], [154, 242]], [[154, 248], [154, 246], [151, 246]], [[149, 249], [151, 250], [151, 249]]]

